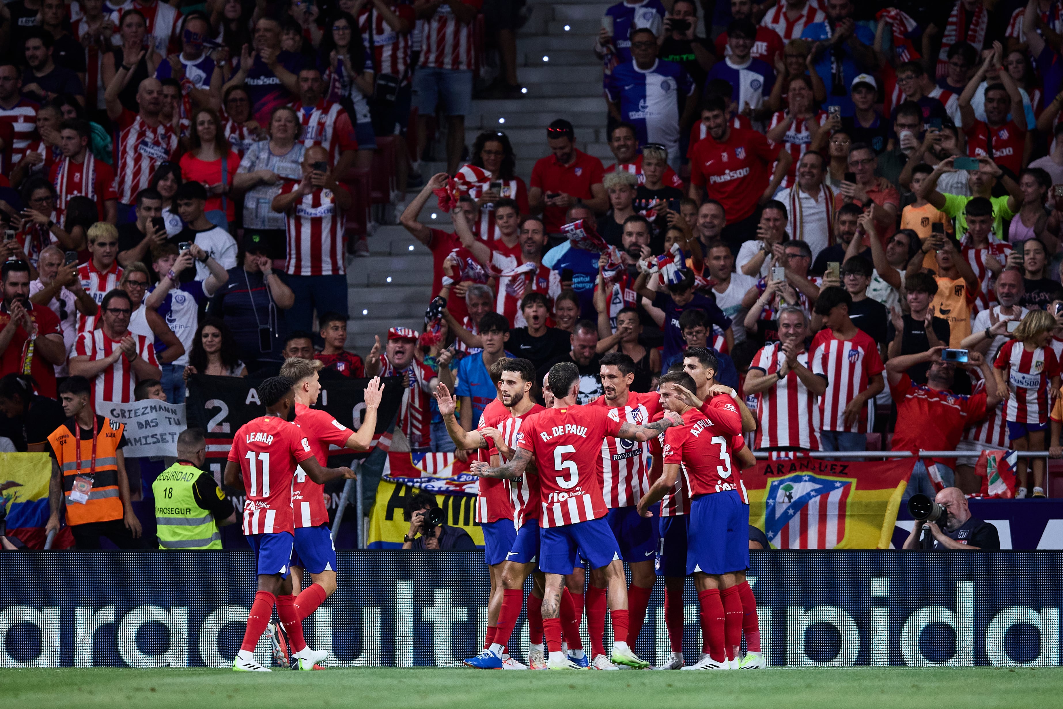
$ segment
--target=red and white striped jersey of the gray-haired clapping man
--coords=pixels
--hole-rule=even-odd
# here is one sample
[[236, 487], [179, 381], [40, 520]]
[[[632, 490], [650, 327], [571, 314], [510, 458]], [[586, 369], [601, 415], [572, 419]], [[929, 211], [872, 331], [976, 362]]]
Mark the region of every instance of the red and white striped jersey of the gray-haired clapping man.
[[[775, 378], [784, 359], [781, 344], [771, 342], [754, 356], [749, 368], [759, 369]], [[809, 362], [808, 352], [797, 355], [797, 361], [813, 374], [826, 376], [822, 369], [823, 360], [813, 358]], [[757, 428], [757, 449], [793, 446], [820, 450], [820, 426], [815, 423], [820, 411], [815, 394], [809, 393], [793, 370], [771, 389], [757, 394], [756, 411], [760, 424]]]

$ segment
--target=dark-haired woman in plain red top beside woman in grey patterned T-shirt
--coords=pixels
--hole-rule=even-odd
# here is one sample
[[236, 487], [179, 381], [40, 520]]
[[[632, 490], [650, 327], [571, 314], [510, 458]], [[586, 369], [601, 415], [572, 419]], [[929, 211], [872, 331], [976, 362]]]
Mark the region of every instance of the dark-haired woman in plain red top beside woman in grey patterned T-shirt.
[[[207, 193], [204, 207], [207, 219], [231, 231], [229, 224], [236, 219], [236, 207], [230, 192], [240, 157], [225, 139], [221, 120], [214, 108], [199, 108], [192, 114], [190, 139], [191, 149], [181, 156], [181, 176], [186, 181], [203, 183]], [[212, 213], [217, 213], [214, 219]]]

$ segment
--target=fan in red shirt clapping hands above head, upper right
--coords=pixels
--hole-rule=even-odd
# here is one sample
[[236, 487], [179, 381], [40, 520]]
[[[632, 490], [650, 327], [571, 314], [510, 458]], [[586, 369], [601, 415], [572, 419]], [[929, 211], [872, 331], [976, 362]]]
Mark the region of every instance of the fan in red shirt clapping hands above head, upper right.
[[[960, 119], [967, 135], [968, 155], [990, 157], [1017, 175], [1026, 163], [1027, 131], [1031, 126], [1026, 124], [1023, 95], [1015, 80], [1000, 68], [1002, 53], [1000, 43], [994, 41], [993, 51], [960, 95]], [[980, 121], [975, 117], [971, 100], [983, 81], [988, 81], [989, 86], [985, 87], [985, 120]], [[1008, 120], [1009, 114], [1011, 120]]]

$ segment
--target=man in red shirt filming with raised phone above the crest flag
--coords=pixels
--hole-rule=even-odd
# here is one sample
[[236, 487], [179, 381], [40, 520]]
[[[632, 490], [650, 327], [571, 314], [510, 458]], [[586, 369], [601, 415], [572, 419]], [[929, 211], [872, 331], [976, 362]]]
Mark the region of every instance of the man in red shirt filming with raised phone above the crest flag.
[[[915, 384], [908, 370], [929, 364], [927, 383]], [[985, 390], [963, 395], [952, 390], [957, 368], [981, 372]], [[982, 355], [967, 350], [949, 350], [939, 345], [927, 352], [898, 355], [885, 362], [890, 393], [897, 404], [897, 424], [893, 433], [893, 451], [952, 451], [963, 436], [963, 429], [996, 408], [1005, 392], [1000, 391], [993, 370]], [[902, 500], [915, 494], [933, 496], [955, 482], [952, 461], [919, 459], [915, 462]]]

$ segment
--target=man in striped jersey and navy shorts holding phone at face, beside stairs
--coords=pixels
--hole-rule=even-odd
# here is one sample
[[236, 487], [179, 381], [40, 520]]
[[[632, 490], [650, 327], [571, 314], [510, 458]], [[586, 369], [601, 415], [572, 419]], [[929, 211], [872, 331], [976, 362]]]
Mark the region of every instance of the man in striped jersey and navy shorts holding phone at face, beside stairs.
[[296, 303], [289, 330], [311, 330], [314, 309], [347, 316], [347, 248], [343, 215], [351, 193], [336, 182], [328, 151], [311, 146], [303, 154], [303, 179], [286, 182], [272, 209], [284, 214], [288, 257], [284, 265]]

